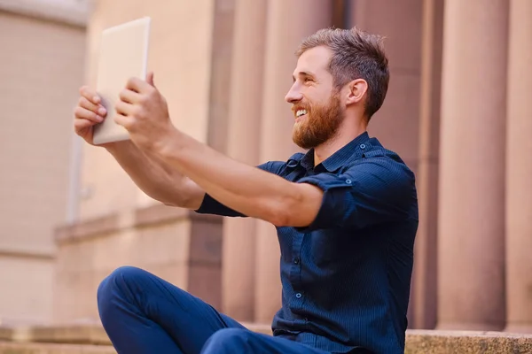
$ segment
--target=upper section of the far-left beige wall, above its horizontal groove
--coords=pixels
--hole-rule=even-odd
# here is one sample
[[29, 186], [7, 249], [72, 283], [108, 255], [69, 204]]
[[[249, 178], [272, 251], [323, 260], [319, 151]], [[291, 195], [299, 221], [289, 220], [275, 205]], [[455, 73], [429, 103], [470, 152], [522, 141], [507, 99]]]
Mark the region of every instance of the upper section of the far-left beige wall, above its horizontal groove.
[[10, 201], [0, 204], [0, 248], [54, 249], [51, 229], [66, 218], [84, 42], [81, 28], [0, 12], [0, 158], [17, 171], [0, 174], [0, 195]]

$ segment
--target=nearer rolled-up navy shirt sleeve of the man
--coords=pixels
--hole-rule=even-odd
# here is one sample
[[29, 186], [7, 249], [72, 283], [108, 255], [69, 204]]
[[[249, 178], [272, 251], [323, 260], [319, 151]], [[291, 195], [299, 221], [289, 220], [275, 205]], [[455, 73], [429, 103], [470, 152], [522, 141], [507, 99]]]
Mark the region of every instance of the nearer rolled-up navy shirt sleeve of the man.
[[372, 158], [339, 174], [302, 178], [324, 191], [316, 219], [300, 232], [324, 228], [363, 228], [406, 219], [416, 204], [413, 173], [392, 158]]

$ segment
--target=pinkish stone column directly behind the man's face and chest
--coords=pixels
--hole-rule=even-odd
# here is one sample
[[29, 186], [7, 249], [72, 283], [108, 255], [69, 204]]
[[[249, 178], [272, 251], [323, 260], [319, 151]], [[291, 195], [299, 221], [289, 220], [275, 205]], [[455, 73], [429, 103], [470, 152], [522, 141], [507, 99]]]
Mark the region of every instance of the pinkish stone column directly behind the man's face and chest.
[[[297, 147], [292, 142], [293, 115], [284, 97], [296, 65], [293, 53], [307, 35], [329, 27], [332, 4], [323, 0], [268, 2], [266, 62], [263, 81], [261, 160], [286, 161]], [[279, 246], [275, 228], [257, 225], [255, 321], [269, 323], [281, 305]]]

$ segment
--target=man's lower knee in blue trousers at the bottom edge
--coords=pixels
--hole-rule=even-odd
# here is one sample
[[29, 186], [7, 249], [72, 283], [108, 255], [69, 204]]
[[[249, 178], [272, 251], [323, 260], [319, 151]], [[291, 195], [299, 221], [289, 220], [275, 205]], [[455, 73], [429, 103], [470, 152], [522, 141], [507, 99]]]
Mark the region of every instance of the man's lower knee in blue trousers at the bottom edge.
[[249, 346], [250, 337], [253, 332], [246, 328], [224, 328], [216, 331], [214, 335], [208, 338], [202, 354], [210, 353], [236, 353]]

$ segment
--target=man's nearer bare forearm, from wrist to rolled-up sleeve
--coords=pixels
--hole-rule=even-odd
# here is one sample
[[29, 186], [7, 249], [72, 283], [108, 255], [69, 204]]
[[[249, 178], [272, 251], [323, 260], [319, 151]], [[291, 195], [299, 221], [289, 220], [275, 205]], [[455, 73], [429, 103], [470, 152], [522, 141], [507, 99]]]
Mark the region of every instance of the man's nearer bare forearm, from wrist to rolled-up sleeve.
[[305, 226], [314, 219], [321, 191], [242, 164], [176, 132], [158, 156], [189, 176], [220, 203], [277, 226]]

